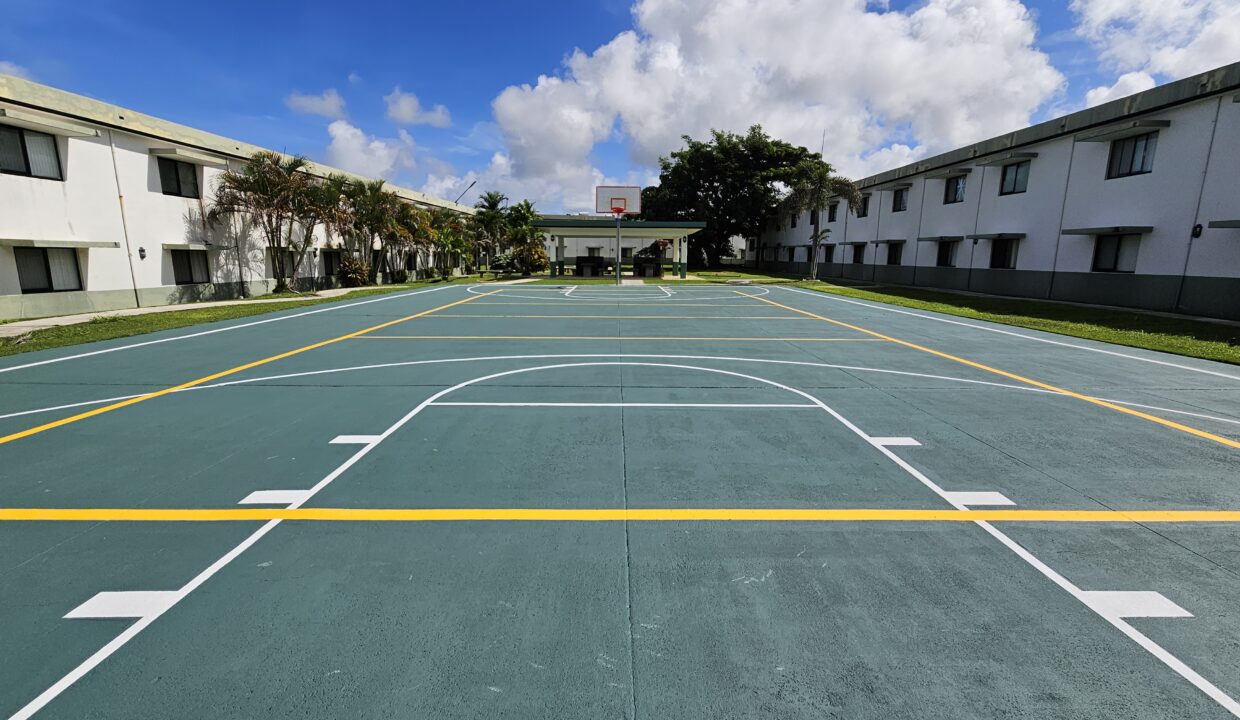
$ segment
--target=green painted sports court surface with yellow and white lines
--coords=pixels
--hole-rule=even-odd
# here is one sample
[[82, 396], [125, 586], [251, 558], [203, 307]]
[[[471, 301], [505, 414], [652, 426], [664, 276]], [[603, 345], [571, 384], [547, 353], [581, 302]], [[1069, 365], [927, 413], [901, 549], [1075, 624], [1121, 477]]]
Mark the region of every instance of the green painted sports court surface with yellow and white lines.
[[0, 716], [1240, 716], [1240, 371], [779, 286], [0, 361]]

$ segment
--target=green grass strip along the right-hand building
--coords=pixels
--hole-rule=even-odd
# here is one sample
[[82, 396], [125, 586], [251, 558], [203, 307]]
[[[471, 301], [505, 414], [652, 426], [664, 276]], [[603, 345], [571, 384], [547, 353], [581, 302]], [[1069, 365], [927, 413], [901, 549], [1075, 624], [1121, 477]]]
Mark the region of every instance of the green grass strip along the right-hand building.
[[764, 285], [786, 285], [857, 300], [931, 310], [945, 315], [1240, 364], [1240, 326], [1223, 322], [1066, 302], [965, 295], [923, 288], [868, 283], [851, 285], [849, 280], [839, 279], [811, 283], [791, 275], [768, 275], [746, 270], [711, 270], [693, 274], [715, 283], [745, 279]]

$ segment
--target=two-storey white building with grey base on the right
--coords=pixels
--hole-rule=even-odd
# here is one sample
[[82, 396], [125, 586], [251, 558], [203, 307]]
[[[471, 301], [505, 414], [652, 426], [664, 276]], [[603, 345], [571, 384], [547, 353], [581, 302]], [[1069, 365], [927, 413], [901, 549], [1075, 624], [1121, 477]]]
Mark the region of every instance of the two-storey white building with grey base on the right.
[[823, 278], [1240, 320], [1240, 63], [858, 185], [746, 259], [806, 273], [818, 221]]

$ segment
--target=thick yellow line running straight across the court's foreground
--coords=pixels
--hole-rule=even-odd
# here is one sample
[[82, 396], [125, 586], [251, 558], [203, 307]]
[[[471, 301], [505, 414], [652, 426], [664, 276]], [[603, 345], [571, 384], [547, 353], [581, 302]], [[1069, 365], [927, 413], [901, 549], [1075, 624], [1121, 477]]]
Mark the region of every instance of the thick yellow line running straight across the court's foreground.
[[1240, 511], [884, 508], [0, 508], [0, 522], [1009, 522], [1240, 523]]

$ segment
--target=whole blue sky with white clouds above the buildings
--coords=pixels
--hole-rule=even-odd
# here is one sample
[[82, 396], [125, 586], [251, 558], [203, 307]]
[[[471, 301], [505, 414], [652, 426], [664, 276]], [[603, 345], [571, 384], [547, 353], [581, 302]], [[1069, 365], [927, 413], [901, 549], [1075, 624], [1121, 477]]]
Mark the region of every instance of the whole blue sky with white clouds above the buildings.
[[[440, 195], [479, 180], [475, 190], [574, 209], [594, 182], [647, 182], [681, 134], [712, 126], [761, 121], [806, 145], [827, 130], [828, 160], [856, 175], [1233, 62], [1235, 43], [1198, 52], [1188, 27], [1240, 17], [1238, 2], [751, 0], [724, 11], [706, 0], [636, 10], [620, 0], [0, 0], [0, 67]], [[883, 45], [903, 64], [867, 74], [872, 62], [844, 47], [854, 36], [862, 55]], [[1149, 46], [1146, 56], [1125, 36]], [[1190, 62], [1158, 64], [1159, 48]], [[661, 63], [670, 55], [675, 69]], [[945, 56], [941, 97], [921, 92], [916, 73], [900, 86], [904, 68]], [[396, 88], [444, 114], [393, 120]], [[290, 100], [331, 90], [339, 103]]]

